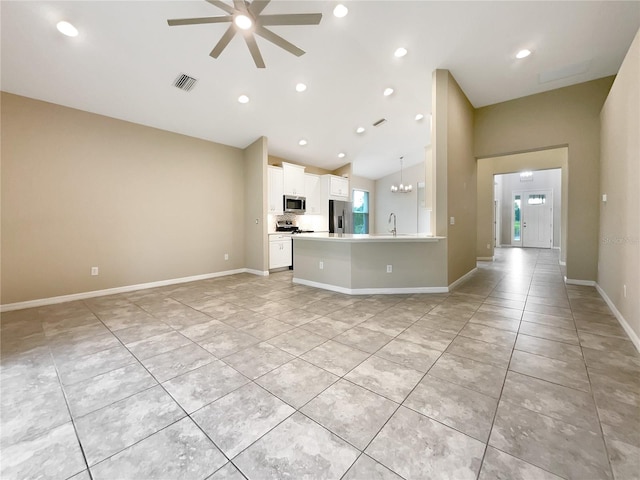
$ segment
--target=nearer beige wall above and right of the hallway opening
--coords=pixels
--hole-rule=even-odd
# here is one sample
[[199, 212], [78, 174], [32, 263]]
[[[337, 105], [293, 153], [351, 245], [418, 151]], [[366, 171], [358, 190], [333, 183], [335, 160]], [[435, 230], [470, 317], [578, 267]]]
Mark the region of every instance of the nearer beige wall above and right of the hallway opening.
[[[597, 275], [599, 115], [612, 82], [613, 77], [601, 78], [475, 112], [476, 158], [568, 147], [566, 252], [572, 280], [595, 280]], [[479, 256], [486, 249], [482, 252]]]

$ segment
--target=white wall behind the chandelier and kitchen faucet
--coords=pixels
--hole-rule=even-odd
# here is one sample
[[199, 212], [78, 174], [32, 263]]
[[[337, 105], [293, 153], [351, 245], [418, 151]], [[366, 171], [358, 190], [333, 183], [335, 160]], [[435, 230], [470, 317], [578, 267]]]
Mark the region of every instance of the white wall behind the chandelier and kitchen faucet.
[[402, 180], [405, 184], [413, 185], [411, 193], [391, 193], [391, 185], [394, 183], [397, 185], [400, 182], [400, 170], [376, 180], [375, 230], [372, 230], [372, 233], [389, 231], [388, 220], [392, 212], [396, 214], [398, 233], [418, 232], [418, 212], [421, 216], [420, 225], [425, 225], [426, 228], [430, 225], [430, 211], [425, 208], [418, 209], [418, 183], [425, 182], [425, 164], [419, 163], [403, 168]]

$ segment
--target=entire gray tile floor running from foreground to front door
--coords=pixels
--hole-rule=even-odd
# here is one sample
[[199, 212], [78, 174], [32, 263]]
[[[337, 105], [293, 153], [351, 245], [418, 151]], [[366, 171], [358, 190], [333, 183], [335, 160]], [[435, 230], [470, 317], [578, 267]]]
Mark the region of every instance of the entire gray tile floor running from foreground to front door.
[[451, 294], [242, 274], [1, 333], [5, 480], [640, 478], [640, 357], [554, 251]]

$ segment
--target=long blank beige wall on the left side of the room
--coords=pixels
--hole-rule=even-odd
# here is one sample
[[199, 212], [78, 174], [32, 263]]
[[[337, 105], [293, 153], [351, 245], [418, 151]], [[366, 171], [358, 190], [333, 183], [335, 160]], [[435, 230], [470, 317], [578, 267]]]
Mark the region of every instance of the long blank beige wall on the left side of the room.
[[245, 266], [241, 150], [1, 99], [2, 304]]

